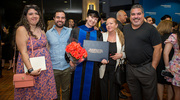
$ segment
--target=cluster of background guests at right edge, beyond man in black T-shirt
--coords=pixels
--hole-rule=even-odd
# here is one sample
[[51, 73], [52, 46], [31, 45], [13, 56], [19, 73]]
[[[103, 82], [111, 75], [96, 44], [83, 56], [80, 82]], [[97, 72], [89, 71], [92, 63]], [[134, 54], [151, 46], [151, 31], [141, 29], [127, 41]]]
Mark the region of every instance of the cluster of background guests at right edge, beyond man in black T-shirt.
[[[152, 24], [155, 26], [158, 30], [158, 32], [161, 35], [161, 40], [162, 40], [162, 55], [161, 59], [159, 61], [159, 64], [157, 66], [156, 72], [157, 72], [157, 90], [158, 90], [158, 96], [160, 100], [163, 100], [163, 92], [164, 88], [167, 88], [167, 94], [168, 94], [168, 100], [172, 100], [174, 97], [174, 92], [175, 92], [175, 100], [178, 97], [177, 94], [179, 94], [178, 86], [175, 85], [178, 84], [177, 81], [179, 81], [178, 78], [175, 78], [174, 82], [169, 80], [168, 77], [164, 77], [162, 75], [162, 72], [164, 70], [167, 70], [168, 72], [171, 72], [174, 76], [177, 77], [178, 70], [179, 70], [179, 65], [177, 65], [177, 62], [180, 62], [179, 60], [179, 55], [177, 53], [177, 47], [173, 44], [172, 42], [169, 43], [170, 41], [177, 41], [178, 39], [178, 33], [179, 33], [179, 25], [176, 22], [171, 21], [172, 18], [170, 15], [164, 15], [161, 18], [161, 22], [158, 25], [155, 25], [155, 19], [152, 18], [151, 16], [145, 17], [145, 21], [149, 24]], [[172, 38], [174, 37], [174, 38]], [[178, 42], [176, 42], [178, 43]], [[169, 46], [170, 45], [170, 46]], [[176, 49], [175, 49], [176, 48]], [[171, 63], [170, 63], [171, 62]], [[173, 65], [174, 64], [174, 65]], [[172, 66], [171, 70], [165, 66]], [[176, 66], [176, 67], [175, 67]], [[175, 67], [175, 68], [174, 68]], [[172, 71], [176, 69], [176, 71]], [[175, 75], [176, 73], [176, 75]], [[175, 85], [175, 86], [173, 86]], [[178, 99], [177, 99], [178, 100]]]

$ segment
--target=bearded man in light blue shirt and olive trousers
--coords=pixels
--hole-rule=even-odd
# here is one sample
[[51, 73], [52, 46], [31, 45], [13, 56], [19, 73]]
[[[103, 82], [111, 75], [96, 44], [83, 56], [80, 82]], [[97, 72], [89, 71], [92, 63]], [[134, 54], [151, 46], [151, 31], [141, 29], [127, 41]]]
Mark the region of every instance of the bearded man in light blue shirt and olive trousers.
[[60, 100], [60, 87], [62, 100], [69, 100], [71, 69], [65, 60], [65, 48], [72, 29], [64, 26], [66, 14], [63, 10], [57, 10], [53, 19], [55, 25], [46, 32], [46, 36], [50, 47], [58, 100]]

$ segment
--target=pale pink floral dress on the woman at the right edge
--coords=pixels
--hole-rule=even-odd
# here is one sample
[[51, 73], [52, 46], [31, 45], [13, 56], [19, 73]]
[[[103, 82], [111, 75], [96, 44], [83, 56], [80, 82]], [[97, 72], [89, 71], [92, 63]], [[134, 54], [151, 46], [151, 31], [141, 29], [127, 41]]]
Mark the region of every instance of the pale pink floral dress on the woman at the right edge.
[[174, 55], [172, 60], [169, 62], [170, 70], [174, 75], [173, 79], [167, 79], [167, 81], [171, 82], [173, 85], [180, 87], [180, 49], [177, 42], [177, 35], [171, 34], [169, 38], [165, 41], [165, 43], [170, 42], [173, 44]]

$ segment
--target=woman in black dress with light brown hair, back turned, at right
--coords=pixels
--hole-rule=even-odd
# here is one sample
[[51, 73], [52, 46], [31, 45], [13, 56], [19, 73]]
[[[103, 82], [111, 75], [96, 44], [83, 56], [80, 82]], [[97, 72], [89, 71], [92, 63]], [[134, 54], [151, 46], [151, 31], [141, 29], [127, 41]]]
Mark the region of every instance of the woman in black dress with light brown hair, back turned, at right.
[[[164, 46], [165, 46], [164, 41], [166, 39], [168, 39], [168, 37], [172, 33], [172, 27], [173, 27], [172, 22], [168, 21], [168, 20], [161, 21], [157, 26], [157, 30], [161, 34], [162, 48], [163, 49], [164, 49]], [[163, 51], [162, 51], [162, 53], [163, 53]], [[170, 52], [170, 57], [169, 58], [172, 58], [173, 53], [174, 53], [174, 50], [172, 49], [171, 52]], [[171, 60], [171, 59], [169, 59], [169, 60]], [[157, 81], [158, 81], [158, 85], [157, 85], [157, 87], [158, 87], [158, 96], [159, 96], [159, 100], [163, 100], [164, 87], [167, 86], [168, 100], [172, 100], [172, 98], [173, 98], [172, 86], [171, 86], [171, 83], [167, 82], [164, 79], [164, 76], [161, 75], [162, 70], [165, 70], [163, 54], [161, 54], [161, 59], [160, 59], [159, 65], [157, 66], [157, 69], [156, 69], [156, 71], [157, 71]]]

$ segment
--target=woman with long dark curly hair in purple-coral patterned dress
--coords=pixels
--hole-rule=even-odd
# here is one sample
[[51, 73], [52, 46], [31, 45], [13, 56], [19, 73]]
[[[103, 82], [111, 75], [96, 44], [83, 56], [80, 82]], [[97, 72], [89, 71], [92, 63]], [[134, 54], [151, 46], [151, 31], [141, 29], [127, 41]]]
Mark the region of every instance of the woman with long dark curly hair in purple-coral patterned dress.
[[[28, 88], [15, 88], [15, 100], [52, 100], [57, 98], [56, 85], [44, 22], [37, 5], [26, 5], [20, 21], [15, 26], [15, 40], [19, 50], [16, 73], [24, 73], [24, 64], [28, 73], [35, 79], [35, 85]], [[32, 51], [33, 47], [33, 51]], [[33, 56], [33, 54], [34, 56]], [[46, 70], [34, 70], [29, 58], [45, 56]]]

